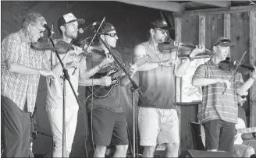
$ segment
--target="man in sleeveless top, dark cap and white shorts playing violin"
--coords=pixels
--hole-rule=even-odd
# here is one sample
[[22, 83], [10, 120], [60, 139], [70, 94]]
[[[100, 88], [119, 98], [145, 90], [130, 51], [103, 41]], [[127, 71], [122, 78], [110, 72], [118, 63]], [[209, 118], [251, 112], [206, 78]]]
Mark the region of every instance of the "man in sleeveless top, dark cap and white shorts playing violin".
[[139, 98], [138, 125], [140, 146], [144, 146], [144, 157], [153, 157], [155, 146], [166, 146], [166, 157], [177, 157], [180, 146], [179, 118], [175, 104], [175, 76], [182, 77], [193, 58], [205, 48], [196, 47], [183, 63], [175, 52], [162, 52], [158, 44], [165, 42], [169, 26], [165, 20], [151, 22], [148, 41], [134, 48], [134, 61], [144, 55], [151, 62], [138, 67], [139, 86], [144, 97]]

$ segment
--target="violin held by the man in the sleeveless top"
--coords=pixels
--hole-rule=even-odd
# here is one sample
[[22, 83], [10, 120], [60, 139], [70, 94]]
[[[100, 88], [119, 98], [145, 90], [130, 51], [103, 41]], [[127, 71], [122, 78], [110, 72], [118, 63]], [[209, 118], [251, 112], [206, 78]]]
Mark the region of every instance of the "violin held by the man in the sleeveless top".
[[[180, 55], [184, 57], [188, 57], [191, 54], [191, 51], [196, 48], [196, 46], [191, 45], [191, 44], [184, 44], [184, 43], [178, 43], [174, 40], [164, 42], [162, 44], [158, 44], [158, 49], [160, 51], [165, 51], [165, 50], [172, 50], [172, 49], [178, 49], [180, 51]], [[211, 55], [212, 51], [209, 48], [205, 48], [205, 51], [201, 54], [197, 54], [197, 56], [200, 55]]]

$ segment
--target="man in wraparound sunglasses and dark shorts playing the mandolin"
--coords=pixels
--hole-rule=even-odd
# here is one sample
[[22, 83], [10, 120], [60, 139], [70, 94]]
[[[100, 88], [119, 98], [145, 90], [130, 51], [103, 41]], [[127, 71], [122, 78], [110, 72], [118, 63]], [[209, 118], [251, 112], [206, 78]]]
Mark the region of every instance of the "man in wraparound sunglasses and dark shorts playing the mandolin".
[[[95, 26], [97, 28], [98, 26]], [[102, 32], [101, 32], [102, 31]], [[100, 38], [108, 44], [112, 54], [122, 62], [121, 54], [116, 51], [116, 41], [118, 40], [116, 34], [116, 28], [111, 23], [103, 23], [101, 26]], [[98, 65], [99, 62], [105, 58], [112, 59], [112, 55], [109, 54], [108, 49], [102, 43], [100, 39], [94, 41], [92, 46], [92, 56], [87, 59], [87, 68], [92, 68], [94, 65]], [[98, 65], [101, 68], [98, 72], [108, 72], [108, 68], [119, 68], [116, 62], [112, 62], [108, 66]], [[130, 65], [128, 73], [130, 77], [133, 77], [136, 72], [136, 65]], [[103, 77], [107, 80], [107, 86], [112, 84], [112, 79], [109, 76]], [[130, 81], [128, 77], [123, 73], [118, 77], [119, 85], [112, 87], [112, 90], [106, 97], [88, 97], [87, 98], [87, 113], [88, 124], [91, 133], [92, 145], [96, 146], [94, 150], [94, 157], [105, 157], [107, 146], [116, 146], [116, 151], [113, 157], [126, 157], [126, 151], [128, 149], [128, 136], [127, 136], [127, 122], [126, 116], [123, 111], [123, 107], [120, 103], [121, 86], [126, 86]], [[80, 81], [80, 85], [89, 86], [96, 85], [97, 83], [92, 80]], [[91, 93], [91, 90], [87, 88], [87, 96]]]

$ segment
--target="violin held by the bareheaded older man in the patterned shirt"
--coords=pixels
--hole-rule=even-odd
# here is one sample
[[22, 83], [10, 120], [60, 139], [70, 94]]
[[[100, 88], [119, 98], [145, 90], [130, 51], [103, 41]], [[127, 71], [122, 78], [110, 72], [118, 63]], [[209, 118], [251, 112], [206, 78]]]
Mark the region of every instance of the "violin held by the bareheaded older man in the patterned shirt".
[[[76, 44], [76, 43], [73, 43], [73, 44], [78, 47], [82, 47], [83, 49], [84, 47], [87, 46], [86, 44]], [[46, 51], [46, 50], [51, 50], [52, 44], [50, 41], [48, 41], [48, 38], [41, 38], [36, 43], [31, 44], [30, 47], [37, 51]], [[72, 44], [68, 44], [62, 40], [55, 40], [55, 48], [59, 54], [66, 54], [67, 51], [74, 50], [74, 47]], [[55, 50], [53, 49], [52, 51], [55, 51]]]

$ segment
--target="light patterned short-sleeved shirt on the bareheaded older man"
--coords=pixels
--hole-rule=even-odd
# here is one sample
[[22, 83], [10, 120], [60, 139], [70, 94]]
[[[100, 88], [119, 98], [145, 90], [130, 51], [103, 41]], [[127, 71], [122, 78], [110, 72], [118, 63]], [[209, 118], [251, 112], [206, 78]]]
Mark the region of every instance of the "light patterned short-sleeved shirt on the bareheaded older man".
[[[2, 96], [11, 99], [21, 111], [33, 112], [40, 75], [23, 75], [9, 72], [5, 65], [7, 59], [12, 59], [12, 61], [29, 68], [49, 68], [50, 62], [43, 51], [31, 49], [30, 44], [22, 30], [11, 33], [2, 41], [1, 93]], [[26, 100], [27, 107], [25, 107]]]

